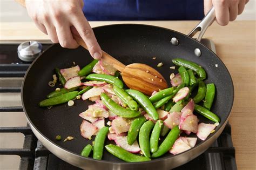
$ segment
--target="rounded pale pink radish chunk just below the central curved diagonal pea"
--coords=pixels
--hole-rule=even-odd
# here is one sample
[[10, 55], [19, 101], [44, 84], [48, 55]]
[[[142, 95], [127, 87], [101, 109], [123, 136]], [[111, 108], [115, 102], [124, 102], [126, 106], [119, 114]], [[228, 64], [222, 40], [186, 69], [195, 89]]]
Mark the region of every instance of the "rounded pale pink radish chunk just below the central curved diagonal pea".
[[116, 117], [112, 121], [111, 126], [116, 134], [128, 132], [130, 128], [130, 124], [124, 118], [121, 117]]

